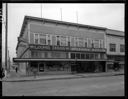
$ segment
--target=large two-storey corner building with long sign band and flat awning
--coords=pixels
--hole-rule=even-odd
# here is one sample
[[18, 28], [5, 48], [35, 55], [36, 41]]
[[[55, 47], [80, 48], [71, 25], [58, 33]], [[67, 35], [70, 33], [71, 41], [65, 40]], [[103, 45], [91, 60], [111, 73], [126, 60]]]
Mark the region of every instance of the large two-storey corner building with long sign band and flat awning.
[[25, 16], [13, 60], [27, 75], [105, 72], [106, 38], [106, 28]]

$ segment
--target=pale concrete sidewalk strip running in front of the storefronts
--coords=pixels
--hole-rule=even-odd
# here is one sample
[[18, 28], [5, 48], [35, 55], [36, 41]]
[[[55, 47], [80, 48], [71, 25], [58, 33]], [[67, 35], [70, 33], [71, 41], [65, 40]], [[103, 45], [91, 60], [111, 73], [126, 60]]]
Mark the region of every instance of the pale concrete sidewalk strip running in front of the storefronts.
[[86, 77], [103, 77], [103, 76], [117, 76], [124, 75], [123, 71], [119, 72], [106, 72], [106, 73], [76, 73], [76, 74], [65, 74], [65, 75], [45, 75], [45, 76], [28, 76], [28, 77], [8, 77], [3, 78], [3, 82], [24, 82], [24, 81], [40, 81], [40, 80], [59, 80], [59, 79], [76, 79]]

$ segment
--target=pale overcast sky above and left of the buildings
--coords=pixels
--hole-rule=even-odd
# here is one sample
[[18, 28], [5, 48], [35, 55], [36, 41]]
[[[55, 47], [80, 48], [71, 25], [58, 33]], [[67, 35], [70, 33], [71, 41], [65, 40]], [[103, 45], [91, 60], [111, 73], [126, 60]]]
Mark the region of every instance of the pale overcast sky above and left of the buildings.
[[[8, 3], [10, 58], [16, 57], [17, 37], [25, 15], [61, 20], [61, 9], [62, 21], [124, 31], [125, 7], [123, 3]], [[3, 4], [2, 61], [5, 60], [5, 12], [5, 4]]]

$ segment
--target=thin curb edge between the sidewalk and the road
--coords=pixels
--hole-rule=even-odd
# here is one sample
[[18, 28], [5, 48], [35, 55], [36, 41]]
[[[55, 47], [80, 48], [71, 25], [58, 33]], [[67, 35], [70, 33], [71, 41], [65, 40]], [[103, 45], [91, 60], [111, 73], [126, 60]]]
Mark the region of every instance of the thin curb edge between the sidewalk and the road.
[[104, 74], [104, 75], [76, 75], [74, 77], [60, 77], [60, 78], [33, 78], [33, 79], [21, 79], [21, 80], [2, 80], [3, 82], [25, 82], [25, 81], [47, 81], [47, 80], [63, 80], [63, 79], [77, 79], [77, 78], [89, 78], [89, 77], [106, 77], [106, 76], [119, 76], [124, 75], [124, 73], [115, 73], [115, 74]]

